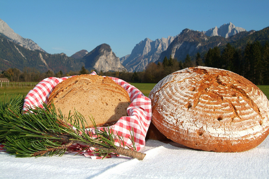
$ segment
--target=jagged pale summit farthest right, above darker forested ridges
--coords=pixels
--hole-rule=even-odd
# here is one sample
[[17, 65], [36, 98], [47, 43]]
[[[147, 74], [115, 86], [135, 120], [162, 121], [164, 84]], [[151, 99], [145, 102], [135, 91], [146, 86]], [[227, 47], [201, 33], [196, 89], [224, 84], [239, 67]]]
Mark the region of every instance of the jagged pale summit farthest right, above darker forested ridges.
[[236, 27], [235, 25], [233, 25], [231, 22], [228, 24], [223, 24], [222, 26], [220, 26], [220, 28], [218, 28], [217, 26], [209, 29], [207, 31], [202, 31], [205, 35], [207, 36], [221, 36], [224, 38], [228, 38], [231, 37], [239, 32], [245, 32], [247, 31], [244, 28], [241, 27]]

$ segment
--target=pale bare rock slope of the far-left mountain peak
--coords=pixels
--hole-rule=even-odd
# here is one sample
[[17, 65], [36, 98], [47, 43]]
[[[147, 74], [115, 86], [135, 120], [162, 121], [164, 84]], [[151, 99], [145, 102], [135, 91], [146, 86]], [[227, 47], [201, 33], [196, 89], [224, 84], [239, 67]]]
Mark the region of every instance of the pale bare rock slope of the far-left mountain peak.
[[28, 38], [23, 38], [22, 36], [16, 34], [14, 30], [12, 30], [6, 22], [0, 19], [0, 33], [7, 37], [14, 43], [19, 44], [24, 48], [28, 48], [29, 50], [39, 50], [45, 52], [41, 47], [39, 47], [33, 40]]

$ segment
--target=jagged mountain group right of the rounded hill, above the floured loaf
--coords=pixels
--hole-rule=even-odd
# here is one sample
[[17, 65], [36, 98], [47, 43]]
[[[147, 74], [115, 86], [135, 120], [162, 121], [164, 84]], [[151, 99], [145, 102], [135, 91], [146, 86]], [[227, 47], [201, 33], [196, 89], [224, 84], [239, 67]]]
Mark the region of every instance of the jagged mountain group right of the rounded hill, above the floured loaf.
[[[120, 61], [128, 71], [143, 71], [147, 64], [158, 61], [162, 62], [165, 56], [169, 58], [171, 55], [173, 58], [183, 61], [187, 54], [192, 56], [202, 50], [208, 50], [220, 45], [219, 42], [210, 42], [209, 48], [200, 47], [202, 44], [209, 42], [206, 41], [207, 38], [218, 36], [222, 37], [221, 39], [225, 41], [225, 38], [240, 32], [246, 32], [246, 30], [236, 27], [230, 22], [219, 28], [215, 27], [202, 32], [185, 29], [175, 37], [169, 36], [168, 38], [161, 38], [155, 41], [146, 38], [144, 41], [136, 44], [130, 55], [120, 58]], [[205, 41], [204, 43], [201, 42], [203, 40]]]

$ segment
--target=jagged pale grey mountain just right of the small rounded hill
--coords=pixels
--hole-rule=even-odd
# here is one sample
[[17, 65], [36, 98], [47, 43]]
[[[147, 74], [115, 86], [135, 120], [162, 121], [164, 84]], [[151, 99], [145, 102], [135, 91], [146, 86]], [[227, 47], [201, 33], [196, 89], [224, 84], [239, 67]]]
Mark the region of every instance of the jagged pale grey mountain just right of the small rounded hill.
[[129, 72], [143, 71], [146, 66], [158, 60], [160, 54], [165, 51], [175, 37], [150, 40], [146, 38], [136, 44], [132, 53], [120, 58], [122, 64]]

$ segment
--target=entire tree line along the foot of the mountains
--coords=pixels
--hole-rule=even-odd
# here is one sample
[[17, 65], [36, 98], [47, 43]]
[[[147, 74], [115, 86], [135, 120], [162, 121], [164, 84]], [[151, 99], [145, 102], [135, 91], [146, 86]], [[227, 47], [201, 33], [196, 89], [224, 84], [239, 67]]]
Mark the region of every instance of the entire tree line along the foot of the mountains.
[[[157, 83], [162, 78], [175, 71], [193, 66], [208, 66], [233, 71], [253, 82], [256, 85], [269, 85], [269, 43], [261, 45], [259, 41], [247, 43], [241, 50], [227, 44], [221, 51], [219, 47], [210, 48], [206, 53], [195, 56], [187, 55], [184, 62], [175, 58], [165, 57], [162, 62], [149, 63], [144, 71], [107, 71], [98, 72], [102, 76], [116, 77], [126, 82], [136, 83]], [[94, 70], [92, 70], [94, 71]], [[14, 82], [39, 82], [47, 77], [65, 77], [80, 74], [89, 74], [84, 66], [80, 71], [69, 71], [63, 74], [62, 71], [54, 73], [47, 71], [40, 73], [35, 68], [25, 67], [23, 71], [16, 68], [9, 68], [0, 73], [0, 77], [7, 77]]]

